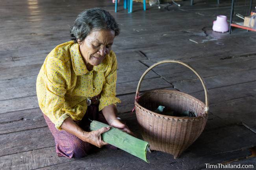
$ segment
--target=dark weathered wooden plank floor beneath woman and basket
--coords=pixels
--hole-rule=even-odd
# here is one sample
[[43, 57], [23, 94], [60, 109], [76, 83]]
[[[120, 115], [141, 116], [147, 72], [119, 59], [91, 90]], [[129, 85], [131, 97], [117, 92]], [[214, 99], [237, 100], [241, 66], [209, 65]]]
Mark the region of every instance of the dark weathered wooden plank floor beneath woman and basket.
[[[230, 1], [189, 0], [182, 7], [134, 3], [128, 14], [111, 0], [2, 0], [0, 6], [0, 169], [1, 170], [201, 170], [206, 163], [255, 165], [256, 34], [211, 30], [217, 15], [230, 13]], [[236, 2], [246, 15], [248, 0]], [[254, 4], [255, 6], [255, 4]], [[155, 62], [178, 59], [204, 77], [210, 114], [202, 135], [178, 159], [148, 154], [149, 164], [122, 150], [99, 149], [82, 159], [58, 157], [54, 139], [37, 103], [35, 81], [46, 55], [69, 41], [69, 25], [92, 7], [107, 9], [121, 27], [113, 50], [119, 64], [119, 116], [139, 135], [134, 113], [138, 80]], [[234, 18], [236, 22], [242, 22]], [[197, 42], [189, 41], [189, 39]], [[168, 88], [204, 101], [202, 86], [188, 69], [164, 64], [150, 71], [141, 91]], [[254, 150], [254, 152], [253, 152]], [[254, 154], [253, 154], [254, 153]]]

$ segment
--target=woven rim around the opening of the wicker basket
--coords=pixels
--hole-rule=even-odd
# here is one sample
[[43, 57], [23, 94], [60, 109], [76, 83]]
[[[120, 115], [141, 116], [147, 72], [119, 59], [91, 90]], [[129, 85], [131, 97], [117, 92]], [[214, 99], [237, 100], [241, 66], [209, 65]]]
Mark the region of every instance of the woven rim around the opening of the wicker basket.
[[[195, 98], [195, 97], [193, 97], [193, 96], [191, 96], [191, 95], [189, 95], [189, 94], [187, 94], [187, 93], [184, 93], [184, 92], [181, 92], [181, 91], [176, 91], [176, 90], [169, 90], [169, 89], [149, 90], [149, 91], [146, 91], [145, 93], [143, 93], [140, 97], [142, 97], [142, 96], [145, 95], [145, 94], [151, 93], [151, 92], [161, 92], [161, 91], [162, 91], [162, 92], [163, 92], [163, 91], [166, 91], [166, 92], [169, 92], [169, 93], [172, 92], [172, 93], [176, 93], [176, 94], [182, 95], [182, 96], [184, 96], [184, 94], [185, 94], [185, 95], [191, 97], [192, 100], [201, 103], [201, 104], [204, 105], [204, 107], [205, 107], [204, 102], [200, 101], [199, 99], [197, 99], [197, 98]], [[138, 108], [143, 108], [143, 110], [147, 111], [148, 113], [153, 114], [153, 115], [158, 116], [158, 117], [163, 117], [163, 118], [165, 118], [165, 119], [195, 120], [195, 119], [202, 119], [202, 118], [208, 116], [208, 113], [207, 113], [206, 111], [205, 111], [202, 115], [197, 116], [197, 117], [177, 117], [177, 116], [162, 115], [162, 114], [159, 114], [159, 113], [156, 113], [156, 112], [153, 112], [153, 111], [151, 111], [151, 110], [148, 110], [148, 109], [144, 108], [144, 107], [141, 106], [136, 100], [135, 100], [135, 107], [136, 107], [136, 108], [137, 108], [137, 107], [138, 107]], [[136, 111], [135, 111], [135, 112], [136, 112]]]

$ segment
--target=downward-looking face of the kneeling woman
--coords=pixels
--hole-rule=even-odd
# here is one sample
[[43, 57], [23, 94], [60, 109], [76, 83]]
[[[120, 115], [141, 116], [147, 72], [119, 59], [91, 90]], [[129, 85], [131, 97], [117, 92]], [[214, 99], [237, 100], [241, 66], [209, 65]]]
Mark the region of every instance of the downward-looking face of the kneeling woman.
[[91, 31], [87, 37], [80, 42], [78, 40], [80, 53], [87, 69], [98, 66], [111, 50], [115, 38], [112, 30]]

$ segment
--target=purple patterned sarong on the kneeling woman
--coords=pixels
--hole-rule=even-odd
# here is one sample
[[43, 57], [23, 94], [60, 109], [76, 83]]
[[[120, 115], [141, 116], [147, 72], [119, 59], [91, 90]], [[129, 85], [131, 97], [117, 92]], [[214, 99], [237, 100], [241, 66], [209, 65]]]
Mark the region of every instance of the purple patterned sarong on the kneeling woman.
[[[45, 117], [45, 121], [48, 125], [48, 128], [52, 132], [52, 135], [56, 144], [56, 152], [59, 157], [84, 157], [88, 155], [93, 148], [96, 148], [93, 144], [87, 143], [72, 135], [65, 130], [57, 130], [55, 128], [54, 123], [50, 121], [50, 119], [43, 114]], [[102, 112], [98, 111], [98, 105], [91, 104], [88, 106], [87, 111], [81, 121], [75, 121], [83, 130], [89, 132], [89, 126], [91, 121], [96, 120], [100, 122], [104, 122], [108, 124], [106, 119], [104, 118]], [[116, 149], [115, 146], [108, 145], [107, 147]]]

